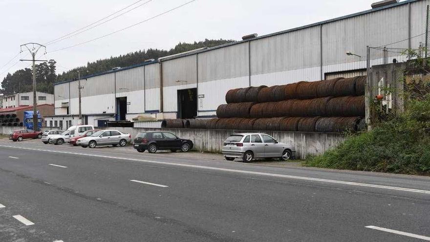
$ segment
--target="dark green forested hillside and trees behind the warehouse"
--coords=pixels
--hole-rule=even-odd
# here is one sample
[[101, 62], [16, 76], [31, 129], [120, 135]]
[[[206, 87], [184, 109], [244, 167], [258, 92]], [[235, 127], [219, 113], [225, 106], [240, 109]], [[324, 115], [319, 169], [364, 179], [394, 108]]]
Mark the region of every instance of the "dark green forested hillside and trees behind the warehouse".
[[[97, 60], [95, 62], [88, 62], [86, 66], [79, 66], [63, 73], [57, 73], [54, 60], [47, 63], [37, 65], [36, 82], [37, 90], [42, 92], [54, 93], [54, 83], [64, 80], [76, 78], [77, 70], [83, 71], [85, 75], [99, 73], [111, 70], [113, 67], [125, 67], [139, 64], [148, 59], [157, 59], [159, 57], [174, 55], [201, 47], [214, 47], [221, 44], [235, 42], [234, 40], [208, 40], [194, 42], [194, 43], [179, 43], [170, 50], [162, 49], [147, 49], [130, 52], [125, 55], [110, 57], [108, 59]], [[88, 72], [86, 72], [88, 71]], [[8, 73], [1, 82], [2, 91], [5, 94], [13, 92], [25, 92], [33, 90], [32, 86], [32, 71], [30, 68], [24, 68], [15, 71], [13, 74]]]

